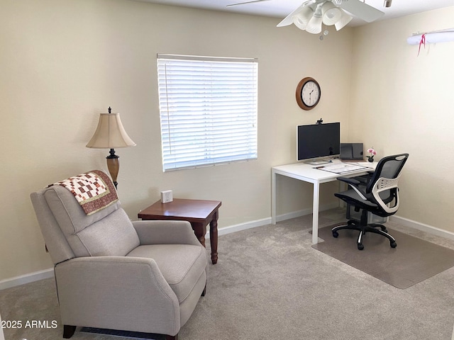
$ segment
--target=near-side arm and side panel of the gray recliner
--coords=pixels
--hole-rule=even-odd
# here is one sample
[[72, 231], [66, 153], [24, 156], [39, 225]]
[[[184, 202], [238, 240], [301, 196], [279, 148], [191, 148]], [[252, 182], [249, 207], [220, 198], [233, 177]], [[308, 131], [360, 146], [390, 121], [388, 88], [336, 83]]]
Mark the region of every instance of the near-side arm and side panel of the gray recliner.
[[58, 263], [55, 281], [63, 324], [162, 334], [180, 327], [177, 296], [154, 259], [80, 257]]

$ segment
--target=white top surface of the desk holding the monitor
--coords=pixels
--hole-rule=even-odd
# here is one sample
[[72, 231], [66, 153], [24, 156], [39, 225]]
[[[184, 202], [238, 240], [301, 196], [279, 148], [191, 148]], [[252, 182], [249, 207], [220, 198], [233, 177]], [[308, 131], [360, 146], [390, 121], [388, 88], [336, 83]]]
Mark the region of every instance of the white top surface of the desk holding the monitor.
[[333, 181], [338, 177], [353, 177], [360, 174], [367, 174], [368, 171], [373, 171], [377, 162], [345, 162], [345, 164], [353, 164], [360, 166], [367, 166], [367, 169], [358, 169], [355, 171], [349, 171], [344, 174], [336, 174], [330, 171], [322, 169], [316, 169], [321, 166], [330, 166], [330, 164], [342, 164], [341, 160], [334, 159], [333, 162], [321, 165], [306, 164], [304, 162], [273, 166], [272, 171], [276, 174], [282, 174], [284, 176], [299, 179], [309, 183], [325, 183]]

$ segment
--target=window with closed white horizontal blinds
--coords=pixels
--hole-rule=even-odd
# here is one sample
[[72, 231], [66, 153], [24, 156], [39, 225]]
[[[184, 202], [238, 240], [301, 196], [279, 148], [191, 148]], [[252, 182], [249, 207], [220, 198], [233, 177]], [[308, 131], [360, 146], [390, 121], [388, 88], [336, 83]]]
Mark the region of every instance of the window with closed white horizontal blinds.
[[164, 171], [257, 159], [258, 60], [157, 55]]

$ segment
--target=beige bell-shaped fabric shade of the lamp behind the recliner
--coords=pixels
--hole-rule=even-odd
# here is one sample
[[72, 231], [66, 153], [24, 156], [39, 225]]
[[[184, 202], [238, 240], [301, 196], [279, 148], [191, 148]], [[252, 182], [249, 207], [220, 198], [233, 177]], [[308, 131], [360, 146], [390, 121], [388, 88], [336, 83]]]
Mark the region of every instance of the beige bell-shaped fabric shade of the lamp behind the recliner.
[[121, 124], [119, 113], [101, 113], [92, 139], [87, 147], [95, 149], [114, 149], [117, 147], [133, 147], [135, 142], [126, 133]]

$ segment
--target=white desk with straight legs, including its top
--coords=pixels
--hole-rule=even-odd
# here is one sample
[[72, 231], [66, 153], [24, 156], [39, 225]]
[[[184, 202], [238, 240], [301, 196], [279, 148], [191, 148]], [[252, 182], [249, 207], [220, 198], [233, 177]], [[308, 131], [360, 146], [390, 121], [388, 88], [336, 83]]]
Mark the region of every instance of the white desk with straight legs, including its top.
[[[341, 163], [336, 159], [333, 163]], [[333, 172], [315, 169], [318, 165], [295, 163], [280, 166], [273, 166], [271, 168], [271, 222], [276, 224], [276, 176], [287, 176], [292, 179], [299, 179], [314, 184], [314, 201], [312, 204], [312, 244], [319, 242], [319, 196], [320, 184], [331, 181], [336, 181], [338, 177], [354, 177], [367, 174], [367, 171], [373, 171], [377, 162], [358, 162], [354, 163], [362, 166], [369, 166], [370, 169], [360, 169], [358, 171], [351, 171], [346, 174], [335, 174]], [[328, 165], [328, 164], [326, 164]]]

